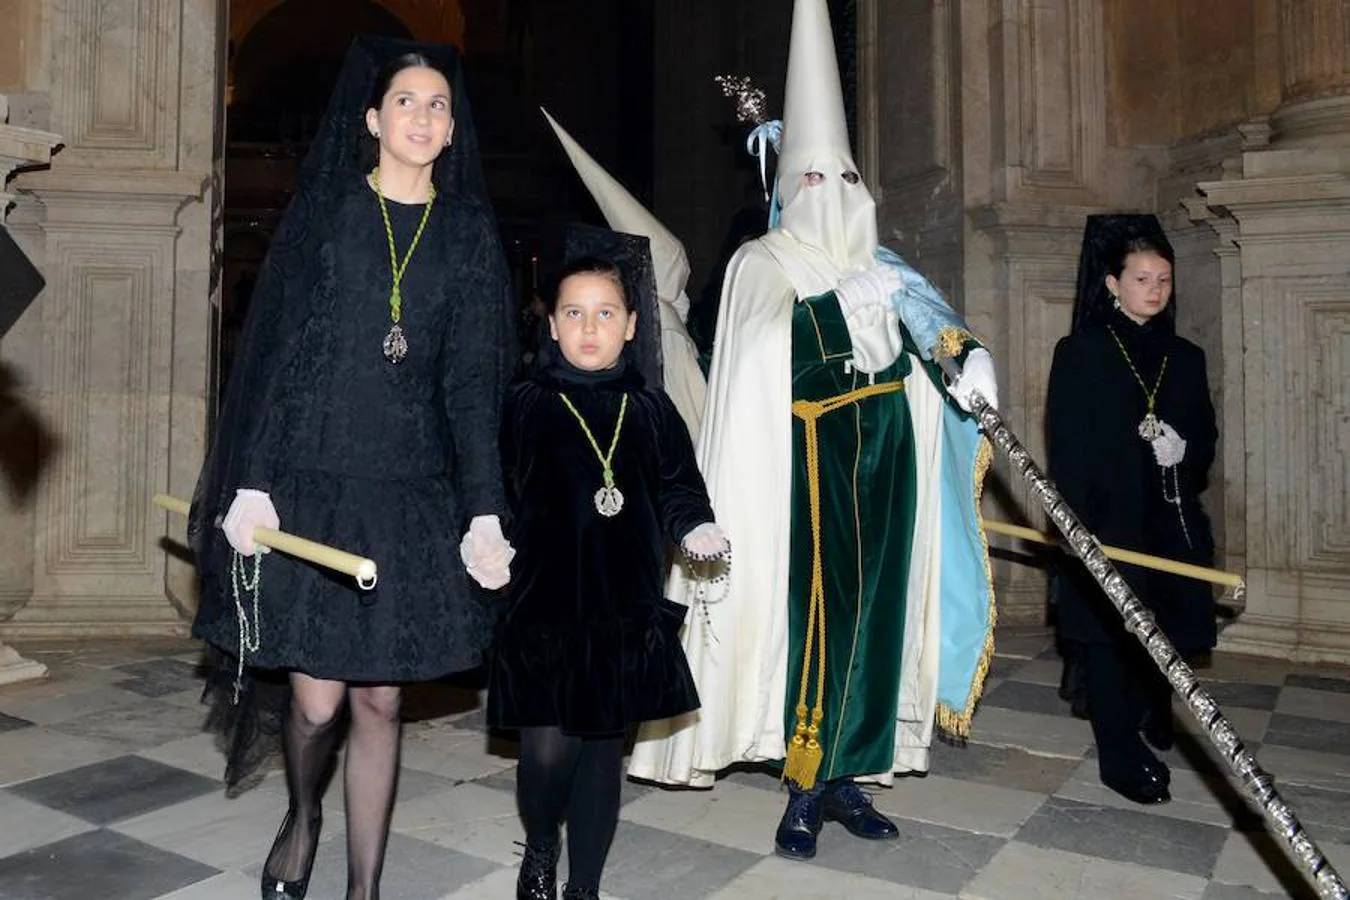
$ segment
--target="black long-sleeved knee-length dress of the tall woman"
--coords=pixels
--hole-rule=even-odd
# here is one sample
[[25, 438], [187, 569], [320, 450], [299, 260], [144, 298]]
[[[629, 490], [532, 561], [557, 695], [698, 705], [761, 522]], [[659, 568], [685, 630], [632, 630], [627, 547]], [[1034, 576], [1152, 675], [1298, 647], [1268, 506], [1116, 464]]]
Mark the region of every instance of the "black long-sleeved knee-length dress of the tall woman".
[[[423, 205], [386, 201], [400, 256]], [[417, 681], [478, 665], [494, 610], [459, 541], [473, 515], [504, 514], [497, 451], [509, 296], [489, 217], [437, 197], [402, 282], [408, 358], [385, 359], [390, 262], [378, 200], [352, 178], [327, 215], [274, 248], [251, 310], [243, 367], [258, 410], [240, 421], [219, 510], [234, 488], [267, 491], [284, 530], [369, 556], [379, 582], [273, 552], [262, 557], [258, 669], [344, 681]], [[297, 231], [300, 233], [297, 235]], [[261, 359], [259, 359], [261, 358]], [[232, 386], [234, 387], [234, 386]], [[202, 529], [204, 596], [193, 634], [238, 657], [230, 548]], [[252, 561], [244, 561], [252, 572]], [[242, 595], [251, 618], [251, 599]]]

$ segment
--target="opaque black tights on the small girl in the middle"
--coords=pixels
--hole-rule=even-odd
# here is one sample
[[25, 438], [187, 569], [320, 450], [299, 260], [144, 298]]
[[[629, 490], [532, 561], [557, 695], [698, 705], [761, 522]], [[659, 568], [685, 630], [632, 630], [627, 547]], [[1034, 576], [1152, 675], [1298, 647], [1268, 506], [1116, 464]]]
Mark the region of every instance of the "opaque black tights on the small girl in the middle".
[[599, 889], [618, 826], [624, 735], [582, 738], [562, 729], [520, 730], [516, 796], [533, 847], [558, 842], [567, 820], [567, 884]]

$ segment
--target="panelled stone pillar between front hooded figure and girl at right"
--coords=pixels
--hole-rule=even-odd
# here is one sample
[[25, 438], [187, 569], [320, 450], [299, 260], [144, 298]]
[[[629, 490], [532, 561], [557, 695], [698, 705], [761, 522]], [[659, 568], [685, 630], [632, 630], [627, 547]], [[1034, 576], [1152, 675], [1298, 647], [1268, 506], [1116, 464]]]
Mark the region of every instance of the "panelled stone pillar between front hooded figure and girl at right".
[[[950, 43], [948, 65], [956, 66], [933, 85], [938, 97], [945, 94], [948, 112], [938, 121], [946, 121], [952, 135], [946, 167], [959, 184], [948, 201], [957, 204], [961, 223], [960, 290], [953, 300], [991, 344], [1004, 418], [1044, 464], [1049, 363], [1072, 320], [1083, 220], [1119, 205], [1110, 175], [1127, 169], [1107, 147], [1102, 4], [953, 3], [934, 4], [932, 15], [934, 34]], [[906, 77], [898, 61], [896, 85]], [[891, 216], [900, 213], [898, 197], [888, 190]], [[922, 194], [911, 197], [922, 202]], [[1040, 505], [1002, 459], [984, 511], [1046, 525]], [[995, 561], [999, 619], [1044, 622], [1044, 549], [1002, 538], [996, 544], [1013, 548]]]

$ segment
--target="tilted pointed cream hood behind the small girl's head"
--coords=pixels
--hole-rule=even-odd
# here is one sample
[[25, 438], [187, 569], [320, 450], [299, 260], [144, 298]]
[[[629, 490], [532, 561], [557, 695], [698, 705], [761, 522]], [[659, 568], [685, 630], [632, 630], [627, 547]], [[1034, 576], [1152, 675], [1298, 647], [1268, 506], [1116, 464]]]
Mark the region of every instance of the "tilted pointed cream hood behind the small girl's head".
[[547, 109], [540, 109], [544, 119], [552, 125], [554, 132], [567, 151], [567, 158], [572, 161], [576, 174], [582, 177], [586, 189], [599, 206], [605, 221], [614, 231], [626, 235], [641, 235], [652, 246], [652, 267], [656, 270], [656, 294], [660, 300], [671, 304], [683, 321], [688, 316], [688, 297], [684, 294], [684, 285], [688, 283], [688, 255], [684, 244], [670, 232], [643, 204], [637, 202], [633, 194], [628, 193], [624, 185], [610, 175], [595, 159], [586, 152], [567, 131], [548, 115]]

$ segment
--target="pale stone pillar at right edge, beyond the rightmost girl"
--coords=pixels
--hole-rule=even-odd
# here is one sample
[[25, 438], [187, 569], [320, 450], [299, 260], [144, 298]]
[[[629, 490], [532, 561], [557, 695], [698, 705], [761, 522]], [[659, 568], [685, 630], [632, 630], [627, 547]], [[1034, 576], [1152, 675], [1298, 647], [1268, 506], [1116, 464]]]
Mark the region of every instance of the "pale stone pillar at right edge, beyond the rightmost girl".
[[1200, 185], [1241, 266], [1249, 594], [1222, 646], [1350, 663], [1350, 13], [1280, 9], [1281, 104]]

